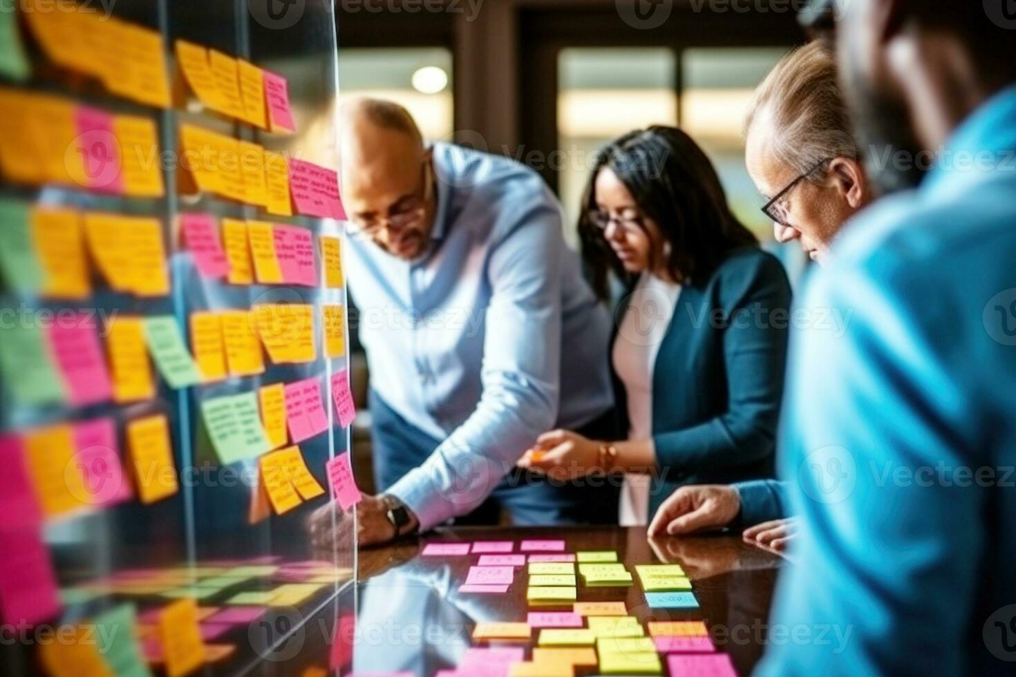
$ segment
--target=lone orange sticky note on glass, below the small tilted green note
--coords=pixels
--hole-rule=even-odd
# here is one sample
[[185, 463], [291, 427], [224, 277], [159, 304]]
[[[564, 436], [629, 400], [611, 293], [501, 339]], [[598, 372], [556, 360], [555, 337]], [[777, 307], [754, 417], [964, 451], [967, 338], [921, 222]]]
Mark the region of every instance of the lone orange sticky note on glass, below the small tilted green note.
[[127, 445], [142, 503], [148, 505], [179, 490], [166, 416], [147, 416], [127, 423]]

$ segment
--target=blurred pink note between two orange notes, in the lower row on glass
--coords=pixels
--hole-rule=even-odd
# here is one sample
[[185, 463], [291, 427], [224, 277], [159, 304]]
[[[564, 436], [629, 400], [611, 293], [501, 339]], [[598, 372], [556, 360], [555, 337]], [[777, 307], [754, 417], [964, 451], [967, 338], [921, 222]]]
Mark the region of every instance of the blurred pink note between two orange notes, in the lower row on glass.
[[115, 505], [131, 497], [130, 483], [120, 463], [116, 423], [112, 418], [75, 424], [74, 447], [74, 463], [84, 475], [89, 502]]

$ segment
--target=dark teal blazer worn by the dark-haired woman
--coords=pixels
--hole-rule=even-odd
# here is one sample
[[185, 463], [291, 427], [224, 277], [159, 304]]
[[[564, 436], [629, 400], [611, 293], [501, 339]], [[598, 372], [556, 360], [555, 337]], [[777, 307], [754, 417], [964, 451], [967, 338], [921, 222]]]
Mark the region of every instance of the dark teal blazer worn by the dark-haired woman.
[[[650, 520], [685, 484], [774, 476], [790, 295], [783, 266], [757, 247], [732, 252], [706, 279], [684, 285], [652, 376]], [[615, 327], [626, 311], [618, 304]], [[616, 375], [615, 390], [627, 434]]]

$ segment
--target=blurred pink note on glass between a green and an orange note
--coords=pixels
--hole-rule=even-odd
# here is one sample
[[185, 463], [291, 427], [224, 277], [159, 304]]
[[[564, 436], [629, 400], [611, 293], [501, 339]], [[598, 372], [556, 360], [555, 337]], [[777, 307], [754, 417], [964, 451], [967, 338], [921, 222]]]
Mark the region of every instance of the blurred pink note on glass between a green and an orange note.
[[108, 402], [113, 397], [113, 384], [99, 343], [94, 318], [88, 313], [74, 313], [71, 317], [61, 314], [54, 320], [49, 335], [71, 404], [80, 407]]

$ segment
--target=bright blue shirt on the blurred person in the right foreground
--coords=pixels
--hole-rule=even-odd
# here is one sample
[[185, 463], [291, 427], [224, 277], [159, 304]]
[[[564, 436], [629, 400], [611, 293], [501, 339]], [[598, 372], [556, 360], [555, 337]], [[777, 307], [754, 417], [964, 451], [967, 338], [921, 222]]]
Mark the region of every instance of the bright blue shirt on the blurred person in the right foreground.
[[791, 339], [803, 524], [758, 674], [1013, 674], [1016, 87], [848, 227], [804, 306], [853, 315]]

